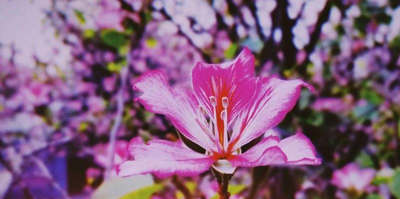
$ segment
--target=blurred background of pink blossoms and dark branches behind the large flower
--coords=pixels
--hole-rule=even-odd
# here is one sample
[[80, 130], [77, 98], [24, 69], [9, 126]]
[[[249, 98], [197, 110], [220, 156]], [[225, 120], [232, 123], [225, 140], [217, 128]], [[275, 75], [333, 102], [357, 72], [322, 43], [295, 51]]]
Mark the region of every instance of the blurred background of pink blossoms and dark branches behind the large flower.
[[211, 172], [116, 176], [134, 136], [178, 140], [132, 83], [191, 89], [247, 46], [258, 76], [316, 88], [267, 133], [301, 130], [322, 165], [239, 168], [231, 198], [400, 199], [399, 0], [1, 0], [0, 29], [0, 198], [215, 197]]

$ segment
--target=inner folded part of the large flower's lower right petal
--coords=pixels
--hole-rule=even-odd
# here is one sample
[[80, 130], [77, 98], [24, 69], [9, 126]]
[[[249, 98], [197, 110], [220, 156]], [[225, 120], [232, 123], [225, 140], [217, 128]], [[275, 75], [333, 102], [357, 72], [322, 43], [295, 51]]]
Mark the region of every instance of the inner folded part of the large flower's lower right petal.
[[243, 154], [228, 158], [233, 167], [258, 167], [284, 164], [287, 160], [283, 151], [277, 147], [279, 138], [269, 136]]

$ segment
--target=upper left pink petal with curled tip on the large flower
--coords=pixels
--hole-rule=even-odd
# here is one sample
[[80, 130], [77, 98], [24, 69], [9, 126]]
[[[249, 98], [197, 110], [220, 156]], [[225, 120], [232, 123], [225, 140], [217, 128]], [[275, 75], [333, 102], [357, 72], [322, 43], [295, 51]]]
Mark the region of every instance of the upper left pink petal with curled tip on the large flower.
[[186, 138], [206, 150], [213, 150], [213, 142], [196, 121], [198, 104], [192, 93], [171, 90], [165, 73], [159, 70], [144, 73], [134, 83], [133, 89], [143, 92], [135, 100], [146, 110], [167, 115]]

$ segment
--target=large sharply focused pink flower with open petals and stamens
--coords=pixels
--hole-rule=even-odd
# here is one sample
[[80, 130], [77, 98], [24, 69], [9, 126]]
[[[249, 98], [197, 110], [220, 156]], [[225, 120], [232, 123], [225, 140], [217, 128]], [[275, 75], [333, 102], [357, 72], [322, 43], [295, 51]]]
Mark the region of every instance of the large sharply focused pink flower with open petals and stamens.
[[302, 133], [283, 140], [268, 136], [248, 151], [241, 150], [284, 118], [302, 86], [313, 89], [301, 80], [255, 78], [254, 70], [255, 58], [245, 48], [232, 62], [197, 63], [193, 93], [171, 89], [162, 71], [143, 74], [133, 85], [143, 93], [135, 100], [148, 111], [168, 116], [189, 148], [167, 140], [145, 144], [135, 137], [128, 146], [134, 160], [119, 166], [119, 176], [193, 176], [211, 166], [232, 174], [237, 167], [319, 165], [314, 146]]

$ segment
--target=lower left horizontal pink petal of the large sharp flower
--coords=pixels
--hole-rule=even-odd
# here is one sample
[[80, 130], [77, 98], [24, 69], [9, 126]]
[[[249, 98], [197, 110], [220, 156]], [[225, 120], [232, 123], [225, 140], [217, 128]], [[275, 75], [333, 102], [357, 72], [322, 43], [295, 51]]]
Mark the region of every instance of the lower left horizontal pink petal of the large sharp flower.
[[207, 171], [215, 162], [212, 156], [167, 140], [153, 140], [144, 144], [141, 137], [135, 137], [129, 143], [128, 151], [134, 160], [119, 165], [117, 172], [120, 177], [148, 173], [159, 178], [174, 174], [195, 176]]

